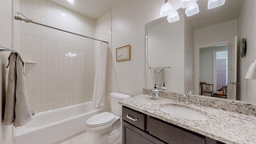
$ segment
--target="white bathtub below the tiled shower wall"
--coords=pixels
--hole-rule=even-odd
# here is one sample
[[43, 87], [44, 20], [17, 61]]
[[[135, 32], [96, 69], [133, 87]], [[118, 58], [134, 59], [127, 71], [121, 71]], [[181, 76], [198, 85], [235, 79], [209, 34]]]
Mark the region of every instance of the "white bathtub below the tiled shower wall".
[[108, 106], [91, 110], [91, 102], [36, 113], [32, 120], [16, 130], [16, 144], [55, 144], [86, 130], [86, 120], [107, 112]]

